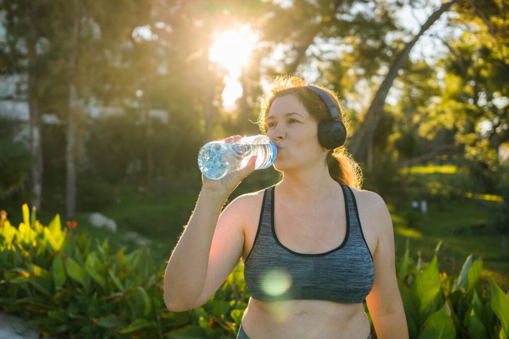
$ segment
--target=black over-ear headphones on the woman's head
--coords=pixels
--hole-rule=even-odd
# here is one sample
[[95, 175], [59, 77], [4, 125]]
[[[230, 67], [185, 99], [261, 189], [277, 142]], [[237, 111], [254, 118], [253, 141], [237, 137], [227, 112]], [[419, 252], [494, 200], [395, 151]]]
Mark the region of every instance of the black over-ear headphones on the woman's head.
[[340, 147], [347, 139], [347, 129], [345, 124], [337, 117], [340, 114], [337, 112], [336, 105], [329, 95], [321, 88], [316, 86], [306, 86], [313, 89], [323, 99], [330, 112], [330, 119], [320, 121], [318, 126], [318, 141], [326, 149], [334, 149]]

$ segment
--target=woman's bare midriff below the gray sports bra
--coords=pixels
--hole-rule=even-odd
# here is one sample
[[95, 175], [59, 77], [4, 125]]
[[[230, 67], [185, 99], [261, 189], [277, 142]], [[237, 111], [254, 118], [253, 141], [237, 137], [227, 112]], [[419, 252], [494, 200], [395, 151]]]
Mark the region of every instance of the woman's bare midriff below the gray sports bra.
[[325, 300], [262, 301], [250, 298], [242, 318], [250, 339], [367, 338], [370, 323], [361, 303]]

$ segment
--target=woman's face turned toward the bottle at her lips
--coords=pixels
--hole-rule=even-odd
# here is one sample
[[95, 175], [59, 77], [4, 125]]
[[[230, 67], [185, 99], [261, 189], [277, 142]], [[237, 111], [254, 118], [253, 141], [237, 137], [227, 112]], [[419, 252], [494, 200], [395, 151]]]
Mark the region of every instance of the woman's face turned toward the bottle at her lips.
[[277, 145], [274, 167], [285, 171], [325, 159], [318, 142], [318, 123], [295, 95], [276, 98], [266, 118], [267, 136]]

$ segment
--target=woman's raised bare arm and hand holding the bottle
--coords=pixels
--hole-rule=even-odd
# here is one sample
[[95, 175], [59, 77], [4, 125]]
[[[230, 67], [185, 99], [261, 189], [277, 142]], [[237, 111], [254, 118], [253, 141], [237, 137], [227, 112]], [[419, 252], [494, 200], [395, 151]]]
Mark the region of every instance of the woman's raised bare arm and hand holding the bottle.
[[[235, 141], [235, 138], [225, 140]], [[254, 170], [255, 161], [256, 157], [251, 158], [247, 167], [220, 180], [204, 179], [194, 211], [164, 273], [164, 303], [169, 310], [185, 311], [206, 302], [215, 292], [211, 286], [220, 284], [218, 280], [226, 274], [222, 278], [224, 281], [239, 261], [244, 233], [239, 223], [242, 219], [237, 217], [241, 212], [235, 211], [236, 206], [241, 204], [232, 202], [232, 206], [229, 205], [222, 213], [224, 216], [219, 215], [230, 193]], [[214, 237], [219, 224], [222, 236]], [[216, 240], [211, 252], [213, 237]], [[218, 252], [221, 260], [214, 255], [214, 267], [210, 267], [211, 253]]]

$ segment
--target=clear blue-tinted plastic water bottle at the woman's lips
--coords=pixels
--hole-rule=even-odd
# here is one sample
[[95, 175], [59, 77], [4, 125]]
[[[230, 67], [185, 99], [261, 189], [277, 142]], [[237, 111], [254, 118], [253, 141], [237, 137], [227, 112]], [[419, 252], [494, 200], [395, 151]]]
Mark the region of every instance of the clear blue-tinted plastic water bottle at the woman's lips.
[[264, 169], [276, 159], [277, 147], [266, 135], [243, 137], [239, 141], [206, 143], [198, 154], [198, 167], [209, 179], [220, 179], [247, 165], [252, 156], [258, 156], [254, 169]]

